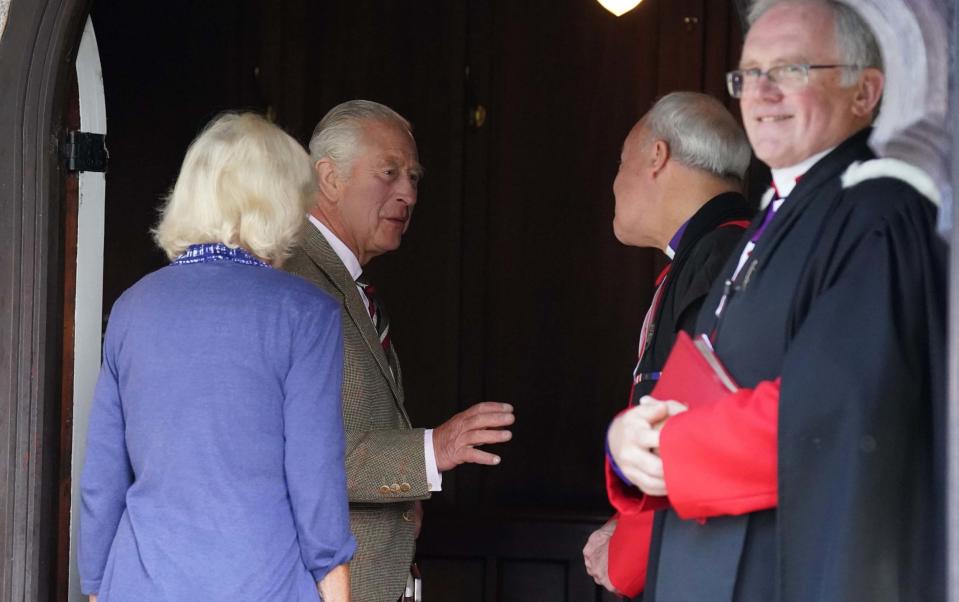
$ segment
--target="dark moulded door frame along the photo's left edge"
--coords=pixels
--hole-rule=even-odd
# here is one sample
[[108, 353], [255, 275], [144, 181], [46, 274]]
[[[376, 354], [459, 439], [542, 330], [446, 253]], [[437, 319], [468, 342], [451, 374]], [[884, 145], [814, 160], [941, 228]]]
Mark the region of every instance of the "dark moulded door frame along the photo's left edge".
[[57, 543], [62, 138], [90, 0], [12, 0], [0, 38], [0, 602], [47, 600]]

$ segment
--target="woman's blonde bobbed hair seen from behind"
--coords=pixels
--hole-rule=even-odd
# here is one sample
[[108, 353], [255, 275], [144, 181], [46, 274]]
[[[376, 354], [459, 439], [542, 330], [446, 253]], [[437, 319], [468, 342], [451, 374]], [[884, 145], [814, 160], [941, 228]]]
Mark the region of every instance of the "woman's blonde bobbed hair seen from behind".
[[260, 115], [223, 113], [187, 149], [153, 238], [170, 259], [219, 242], [275, 263], [297, 242], [315, 191], [296, 140]]

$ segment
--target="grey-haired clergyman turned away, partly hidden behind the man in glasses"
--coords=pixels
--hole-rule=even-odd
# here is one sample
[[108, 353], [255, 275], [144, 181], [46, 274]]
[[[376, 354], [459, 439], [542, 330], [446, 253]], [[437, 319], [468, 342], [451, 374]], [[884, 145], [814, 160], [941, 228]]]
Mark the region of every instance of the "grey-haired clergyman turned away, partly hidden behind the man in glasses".
[[[660, 99], [633, 127], [613, 184], [613, 230], [626, 245], [660, 249], [671, 260], [657, 281], [640, 335], [631, 403], [649, 393], [680, 330], [692, 333], [710, 285], [739, 242], [753, 211], [741, 194], [749, 166], [749, 142], [735, 118], [715, 98], [674, 92]], [[651, 514], [640, 517], [646, 537], [629, 537], [613, 553], [631, 556], [635, 573], [611, 574], [609, 541], [613, 517], [590, 536], [583, 549], [586, 569], [610, 591], [634, 595], [645, 568], [633, 556], [648, 549]], [[643, 549], [635, 549], [643, 548]], [[622, 563], [621, 563], [622, 566]], [[611, 578], [613, 582], [611, 582]]]

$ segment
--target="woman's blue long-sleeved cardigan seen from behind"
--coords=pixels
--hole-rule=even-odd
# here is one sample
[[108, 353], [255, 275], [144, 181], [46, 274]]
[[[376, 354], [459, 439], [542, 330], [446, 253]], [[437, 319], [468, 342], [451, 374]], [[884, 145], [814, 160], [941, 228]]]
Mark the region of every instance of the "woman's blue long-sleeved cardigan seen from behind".
[[99, 602], [319, 599], [353, 555], [339, 307], [231, 261], [170, 265], [117, 300], [81, 478]]

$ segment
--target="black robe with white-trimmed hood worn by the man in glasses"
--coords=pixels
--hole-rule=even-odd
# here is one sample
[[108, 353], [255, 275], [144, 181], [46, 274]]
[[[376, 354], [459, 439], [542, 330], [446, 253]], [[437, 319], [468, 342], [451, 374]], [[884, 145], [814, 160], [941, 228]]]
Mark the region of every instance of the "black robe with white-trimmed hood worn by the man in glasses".
[[[670, 510], [647, 602], [944, 599], [946, 247], [928, 178], [873, 161], [868, 134], [802, 177], [738, 276], [703, 305], [697, 331], [741, 386], [781, 379], [778, 501], [729, 500], [741, 514], [705, 522]], [[746, 466], [757, 453], [748, 437], [697, 424], [708, 415], [671, 419], [690, 446], [714, 447], [701, 474], [682, 478], [706, 483], [710, 463]]]

